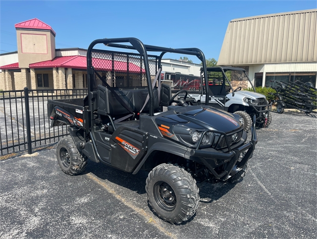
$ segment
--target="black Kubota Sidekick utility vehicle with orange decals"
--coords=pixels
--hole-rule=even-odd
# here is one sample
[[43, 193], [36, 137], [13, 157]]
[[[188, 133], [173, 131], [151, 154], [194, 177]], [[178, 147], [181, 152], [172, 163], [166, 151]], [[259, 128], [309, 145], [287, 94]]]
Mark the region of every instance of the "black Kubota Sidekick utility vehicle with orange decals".
[[[93, 49], [97, 44], [138, 53]], [[181, 223], [198, 207], [196, 182], [242, 179], [257, 135], [253, 126], [246, 142], [239, 115], [189, 106], [187, 92], [183, 99], [177, 99], [183, 91], [171, 96], [170, 87], [160, 84], [166, 52], [196, 55], [206, 73], [198, 48], [155, 47], [136, 38], [96, 40], [87, 52], [88, 96], [49, 100], [48, 110], [52, 126], [69, 125], [70, 137], [57, 145], [64, 173], [81, 173], [88, 158], [128, 173], [149, 171], [146, 191], [153, 211], [164, 221]]]

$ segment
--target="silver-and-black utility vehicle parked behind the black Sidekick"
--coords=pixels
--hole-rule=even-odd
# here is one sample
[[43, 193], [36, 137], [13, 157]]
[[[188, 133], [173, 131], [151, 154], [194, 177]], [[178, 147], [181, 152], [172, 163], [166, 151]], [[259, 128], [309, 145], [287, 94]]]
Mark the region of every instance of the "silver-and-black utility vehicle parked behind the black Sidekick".
[[[204, 72], [201, 71], [201, 73], [203, 81], [205, 79]], [[257, 127], [265, 128], [271, 123], [272, 102], [268, 103], [264, 95], [256, 93], [245, 69], [225, 66], [208, 67], [207, 79], [208, 89], [210, 90], [209, 105], [240, 115], [241, 123], [246, 132], [251, 128], [254, 116]], [[254, 92], [243, 91], [242, 86], [233, 89], [233, 81], [249, 82]], [[246, 85], [245, 88], [247, 87]], [[200, 94], [189, 93], [186, 102], [191, 105], [205, 104], [206, 95], [204, 90], [206, 90], [205, 87]]]

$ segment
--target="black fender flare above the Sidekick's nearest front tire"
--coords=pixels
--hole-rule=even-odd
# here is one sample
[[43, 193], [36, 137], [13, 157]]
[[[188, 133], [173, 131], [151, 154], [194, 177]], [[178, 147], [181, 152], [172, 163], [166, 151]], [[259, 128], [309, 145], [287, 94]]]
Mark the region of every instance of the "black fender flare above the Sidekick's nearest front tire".
[[190, 155], [190, 150], [188, 150], [186, 146], [170, 144], [170, 143], [155, 143], [150, 148], [150, 150], [148, 150], [147, 154], [141, 160], [141, 162], [138, 164], [138, 166], [136, 167], [136, 169], [133, 171], [132, 174], [136, 174], [139, 172], [140, 168], [148, 159], [149, 155], [151, 155], [151, 153], [154, 151], [164, 151], [164, 152], [171, 153], [171, 154], [181, 156], [184, 158], [186, 157], [186, 154]]

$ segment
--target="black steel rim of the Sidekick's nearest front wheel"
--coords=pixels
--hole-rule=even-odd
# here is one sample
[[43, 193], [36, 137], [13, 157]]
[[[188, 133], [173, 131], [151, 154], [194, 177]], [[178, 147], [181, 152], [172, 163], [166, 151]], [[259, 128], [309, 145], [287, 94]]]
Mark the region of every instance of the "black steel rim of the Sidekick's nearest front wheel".
[[174, 190], [165, 182], [157, 182], [153, 188], [154, 198], [159, 207], [165, 211], [172, 211], [176, 207]]

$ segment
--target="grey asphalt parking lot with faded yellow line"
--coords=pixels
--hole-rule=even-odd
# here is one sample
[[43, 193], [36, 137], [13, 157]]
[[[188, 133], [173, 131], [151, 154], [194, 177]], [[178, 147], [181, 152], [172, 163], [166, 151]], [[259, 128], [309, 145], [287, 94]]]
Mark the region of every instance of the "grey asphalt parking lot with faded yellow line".
[[316, 238], [316, 114], [273, 112], [238, 184], [206, 184], [190, 221], [171, 225], [147, 204], [146, 172], [89, 161], [68, 176], [55, 149], [0, 161], [0, 238]]

